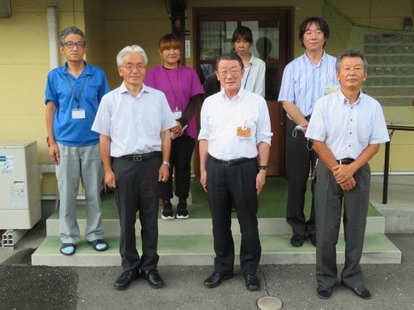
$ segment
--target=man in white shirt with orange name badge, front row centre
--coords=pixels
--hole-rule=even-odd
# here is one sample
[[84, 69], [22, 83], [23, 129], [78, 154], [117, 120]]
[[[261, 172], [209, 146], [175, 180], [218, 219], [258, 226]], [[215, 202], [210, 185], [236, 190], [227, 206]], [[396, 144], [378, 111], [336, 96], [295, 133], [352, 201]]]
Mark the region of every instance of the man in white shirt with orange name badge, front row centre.
[[204, 101], [199, 133], [200, 182], [210, 205], [216, 254], [214, 271], [204, 285], [217, 287], [221, 281], [233, 277], [231, 200], [242, 233], [240, 265], [247, 289], [254, 291], [260, 287], [256, 271], [262, 251], [257, 229], [257, 195], [266, 180], [273, 134], [266, 101], [241, 86], [242, 59], [223, 54], [217, 59], [216, 68], [223, 90]]

